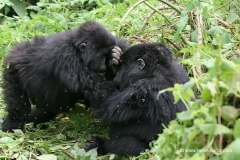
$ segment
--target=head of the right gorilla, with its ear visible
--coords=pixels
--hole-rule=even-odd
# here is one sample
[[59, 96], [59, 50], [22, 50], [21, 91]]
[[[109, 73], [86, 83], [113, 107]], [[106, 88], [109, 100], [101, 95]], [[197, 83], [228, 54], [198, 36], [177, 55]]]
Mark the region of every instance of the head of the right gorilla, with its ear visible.
[[114, 78], [120, 89], [139, 79], [153, 78], [157, 69], [168, 68], [172, 62], [170, 50], [160, 43], [135, 45], [121, 56], [121, 60], [121, 69]]

